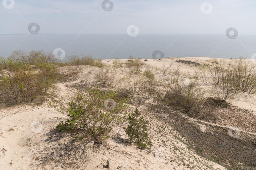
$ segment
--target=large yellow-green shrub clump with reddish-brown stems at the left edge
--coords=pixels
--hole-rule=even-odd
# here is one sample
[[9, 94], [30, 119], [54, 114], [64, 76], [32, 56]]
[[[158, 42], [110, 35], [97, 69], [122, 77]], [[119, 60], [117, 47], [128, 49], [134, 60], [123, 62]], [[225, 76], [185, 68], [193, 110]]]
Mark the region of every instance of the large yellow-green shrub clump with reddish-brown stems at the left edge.
[[47, 63], [38, 63], [35, 70], [30, 64], [8, 58], [1, 67], [0, 94], [9, 103], [33, 102], [35, 98], [42, 103], [57, 81], [54, 66]]

